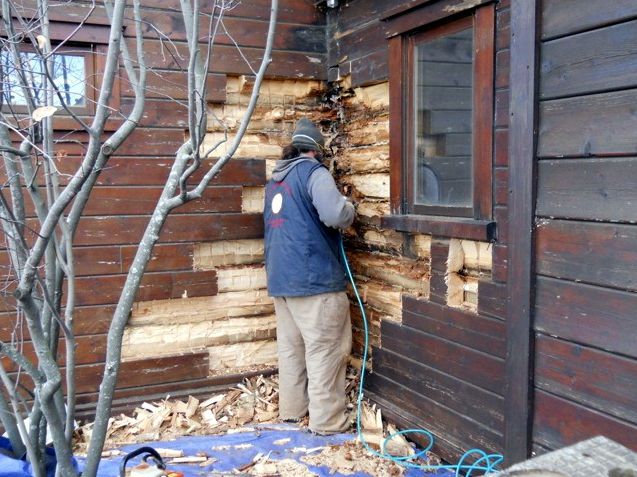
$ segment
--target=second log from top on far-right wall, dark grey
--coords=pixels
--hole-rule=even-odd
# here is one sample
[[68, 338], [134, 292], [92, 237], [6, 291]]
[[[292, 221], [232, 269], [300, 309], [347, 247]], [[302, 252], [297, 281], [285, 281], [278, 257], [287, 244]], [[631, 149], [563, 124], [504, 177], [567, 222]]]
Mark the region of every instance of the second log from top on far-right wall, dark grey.
[[637, 86], [636, 31], [633, 20], [544, 43], [540, 98]]

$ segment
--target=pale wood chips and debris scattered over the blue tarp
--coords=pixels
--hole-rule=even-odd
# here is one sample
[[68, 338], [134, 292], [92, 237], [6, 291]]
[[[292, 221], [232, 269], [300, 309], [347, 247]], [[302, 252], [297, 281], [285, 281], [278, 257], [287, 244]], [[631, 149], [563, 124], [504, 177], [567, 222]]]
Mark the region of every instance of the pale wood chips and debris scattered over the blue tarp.
[[[358, 393], [358, 373], [351, 369], [347, 374], [349, 409], [353, 410], [353, 432], [355, 432], [355, 408]], [[132, 415], [120, 414], [109, 420], [103, 457], [123, 455], [118, 447], [146, 441], [174, 440], [188, 435], [215, 435], [242, 432], [246, 427], [275, 422], [278, 419], [277, 376], [256, 376], [245, 379], [242, 384], [226, 393], [199, 400], [190, 396], [187, 401], [165, 399], [143, 403]], [[300, 423], [307, 426], [307, 418]], [[361, 426], [365, 441], [380, 450], [383, 439], [396, 432], [391, 424], [383, 422], [380, 409], [364, 403]], [[85, 424], [75, 434], [75, 454], [85, 455], [91, 438], [93, 424]], [[250, 429], [252, 430], [252, 429]], [[288, 439], [289, 440], [289, 439]], [[276, 443], [284, 445], [284, 442]], [[168, 463], [191, 463], [207, 466], [214, 462], [208, 455], [185, 456], [174, 449], [157, 449]], [[300, 452], [302, 449], [293, 449]], [[403, 436], [396, 436], [386, 445], [386, 450], [395, 456], [414, 455], [414, 449]], [[370, 476], [400, 476], [403, 468], [370, 454], [358, 440], [341, 446], [326, 446], [308, 449], [301, 463], [291, 459], [272, 460], [269, 455], [257, 455], [252, 463], [235, 469], [241, 475], [278, 475], [304, 477], [315, 475], [305, 465], [328, 466], [334, 472], [353, 474], [363, 472]], [[436, 462], [430, 456], [429, 463]]]

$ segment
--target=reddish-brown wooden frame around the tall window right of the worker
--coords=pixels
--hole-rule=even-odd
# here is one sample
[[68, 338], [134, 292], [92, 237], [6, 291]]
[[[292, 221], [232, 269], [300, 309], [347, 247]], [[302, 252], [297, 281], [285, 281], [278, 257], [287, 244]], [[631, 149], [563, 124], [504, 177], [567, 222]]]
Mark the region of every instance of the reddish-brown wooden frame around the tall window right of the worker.
[[[440, 2], [443, 4], [444, 2]], [[483, 2], [471, 10], [455, 15], [437, 14], [444, 8], [424, 6], [422, 11], [409, 11], [405, 17], [393, 16], [389, 37], [389, 94], [390, 94], [390, 201], [394, 215], [407, 215], [415, 223], [420, 218], [428, 222], [455, 221], [455, 233], [463, 223], [483, 222], [492, 227], [493, 214], [493, 122], [495, 97], [495, 8]], [[418, 21], [422, 19], [422, 23]], [[444, 206], [418, 206], [413, 204], [413, 151], [414, 151], [414, 85], [413, 57], [415, 44], [425, 38], [435, 38], [459, 25], [474, 27], [473, 68], [473, 207], [458, 210]], [[409, 180], [408, 180], [409, 179]], [[454, 210], [455, 209], [455, 210]], [[461, 208], [464, 209], [464, 208]], [[388, 218], [390, 219], [390, 218]], [[422, 221], [421, 221], [422, 222]], [[387, 220], [386, 224], [395, 224]], [[418, 226], [422, 229], [422, 226]], [[419, 230], [423, 231], [423, 230]], [[462, 234], [460, 234], [462, 235]]]

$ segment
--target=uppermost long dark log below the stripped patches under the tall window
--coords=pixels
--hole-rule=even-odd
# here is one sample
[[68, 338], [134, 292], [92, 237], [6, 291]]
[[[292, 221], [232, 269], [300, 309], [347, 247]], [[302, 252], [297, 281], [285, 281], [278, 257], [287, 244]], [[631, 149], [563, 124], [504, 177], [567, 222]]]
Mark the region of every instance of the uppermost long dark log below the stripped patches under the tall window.
[[500, 320], [404, 296], [403, 324], [499, 358], [506, 354], [506, 330]]

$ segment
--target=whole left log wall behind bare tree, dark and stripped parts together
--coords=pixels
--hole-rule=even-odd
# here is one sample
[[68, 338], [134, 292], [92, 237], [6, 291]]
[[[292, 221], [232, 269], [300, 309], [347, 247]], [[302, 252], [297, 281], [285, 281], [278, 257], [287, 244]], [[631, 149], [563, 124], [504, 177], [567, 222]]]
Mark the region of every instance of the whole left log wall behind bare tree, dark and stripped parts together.
[[[24, 4], [28, 15], [29, 2], [16, 3]], [[201, 3], [204, 10], [212, 4]], [[279, 3], [273, 62], [236, 159], [201, 200], [170, 215], [154, 251], [126, 330], [114, 411], [167, 393], [204, 393], [236, 382], [237, 373], [275, 365], [273, 306], [264, 290], [262, 266], [262, 188], [270, 159], [280, 154], [298, 115], [312, 116], [320, 109], [320, 80], [326, 76], [324, 15], [310, 0]], [[188, 57], [179, 1], [145, 0], [143, 5], [146, 62], [152, 69], [144, 118], [101, 173], [74, 244], [80, 413], [90, 414], [96, 400], [106, 333], [125, 273], [187, 133], [183, 71]], [[72, 31], [69, 25], [81, 21], [89, 8], [90, 2], [81, 1], [51, 5], [52, 30]], [[221, 35], [213, 50], [208, 101], [211, 113], [228, 121], [230, 136], [251, 91], [251, 82], [243, 76], [250, 68], [233, 41], [256, 67], [269, 13], [269, 0], [239, 2], [225, 16], [232, 39]], [[127, 17], [125, 35], [133, 42], [132, 13]], [[98, 7], [69, 45], [95, 51], [99, 63], [108, 23]], [[151, 24], [166, 35], [163, 40]], [[208, 17], [202, 16], [201, 31], [207, 25]], [[133, 94], [123, 68], [121, 73], [114, 105], [128, 112]], [[68, 172], [79, 163], [86, 138], [69, 134], [65, 118], [56, 121], [65, 140], [57, 145], [59, 167]], [[114, 114], [110, 127], [118, 122]], [[221, 134], [218, 124], [210, 121], [210, 127], [207, 143]], [[6, 266], [6, 254], [3, 257]], [[9, 298], [3, 300], [2, 340], [19, 339], [24, 331], [16, 327], [13, 309]]]

